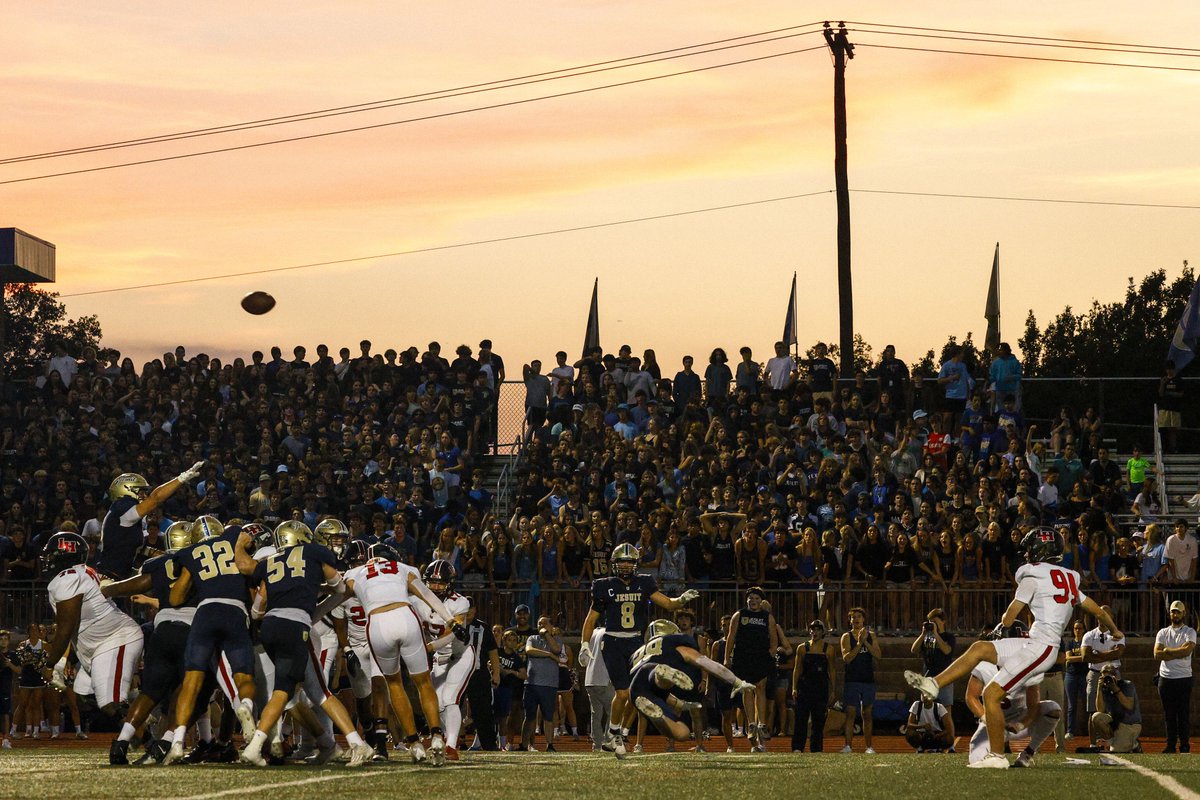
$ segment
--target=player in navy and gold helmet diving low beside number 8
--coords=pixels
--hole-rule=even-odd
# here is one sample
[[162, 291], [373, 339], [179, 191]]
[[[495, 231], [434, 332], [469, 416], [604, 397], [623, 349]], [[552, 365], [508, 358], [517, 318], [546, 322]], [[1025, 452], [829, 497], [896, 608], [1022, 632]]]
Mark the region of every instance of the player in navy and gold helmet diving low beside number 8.
[[696, 639], [680, 633], [679, 626], [671, 620], [650, 622], [646, 630], [646, 645], [634, 656], [634, 675], [629, 686], [632, 705], [626, 711], [624, 727], [630, 727], [641, 712], [664, 735], [674, 741], [686, 740], [692, 729], [680, 716], [703, 708], [696, 690], [704, 673], [732, 685], [733, 697], [754, 691], [754, 684], [742, 680], [697, 650]]

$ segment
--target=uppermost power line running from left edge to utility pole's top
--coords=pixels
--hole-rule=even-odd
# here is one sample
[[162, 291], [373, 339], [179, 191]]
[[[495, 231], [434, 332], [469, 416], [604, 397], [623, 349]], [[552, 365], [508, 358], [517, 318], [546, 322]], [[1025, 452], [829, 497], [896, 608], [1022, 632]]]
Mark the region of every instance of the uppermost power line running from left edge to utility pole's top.
[[[431, 100], [445, 100], [449, 97], [461, 97], [463, 95], [479, 94], [484, 91], [496, 91], [499, 89], [512, 89], [516, 86], [524, 86], [534, 83], [544, 83], [547, 80], [560, 80], [564, 78], [575, 78], [586, 74], [594, 74], [598, 72], [607, 72], [611, 70], [623, 70], [626, 67], [643, 66], [646, 64], [654, 64], [658, 61], [667, 61], [671, 59], [690, 58], [694, 55], [704, 55], [707, 53], [716, 53], [720, 50], [733, 49], [738, 47], [754, 47], [757, 44], [767, 44], [770, 42], [779, 42], [786, 38], [794, 38], [798, 36], [806, 36], [810, 34], [817, 34], [817, 30], [803, 31], [803, 32], [788, 32], [797, 31], [803, 28], [812, 28], [818, 23], [808, 23], [805, 25], [793, 25], [790, 28], [780, 28], [770, 31], [761, 31], [758, 34], [746, 34], [744, 36], [733, 36], [722, 40], [715, 40], [712, 42], [703, 42], [700, 44], [689, 44], [686, 47], [676, 47], [666, 50], [656, 50], [653, 53], [642, 53], [640, 55], [630, 55], [620, 59], [608, 59], [606, 61], [594, 61], [592, 64], [577, 65], [574, 67], [563, 67], [559, 70], [550, 70], [545, 72], [535, 72], [526, 76], [518, 76], [514, 78], [503, 78], [499, 80], [488, 80], [484, 83], [467, 84], [463, 86], [455, 86], [451, 89], [440, 89], [436, 91], [419, 92], [414, 95], [406, 95], [402, 97], [391, 97], [388, 100], [377, 100], [366, 103], [355, 103], [352, 106], [338, 106], [335, 108], [324, 108], [312, 112], [301, 112], [298, 114], [288, 114], [284, 116], [272, 116], [260, 120], [250, 120], [245, 122], [232, 122], [229, 125], [220, 125], [216, 127], [208, 128], [196, 128], [192, 131], [180, 131], [176, 133], [163, 133], [151, 137], [142, 137], [137, 139], [125, 139], [121, 142], [109, 142], [104, 144], [85, 145], [80, 148], [68, 148], [65, 150], [50, 150], [47, 152], [29, 154], [24, 156], [12, 156], [7, 158], [0, 158], [0, 164], [12, 164], [23, 163], [28, 161], [41, 161], [46, 158], [59, 158], [62, 156], [74, 156], [85, 155], [92, 152], [104, 152], [108, 150], [119, 150], [124, 148], [142, 146], [148, 144], [162, 144], [167, 142], [178, 142], [184, 139], [192, 139], [198, 137], [216, 136], [221, 133], [236, 133], [240, 131], [251, 131], [259, 127], [272, 127], [276, 125], [289, 125], [293, 122], [307, 122], [311, 120], [319, 120], [330, 116], [341, 116], [346, 114], [359, 114], [362, 112], [376, 112], [388, 108], [395, 108], [397, 106], [407, 106], [418, 102], [427, 102]], [[782, 34], [781, 36], [775, 36], [775, 34]], [[770, 38], [763, 38], [770, 37]], [[755, 41], [744, 41], [755, 40]], [[731, 44], [731, 42], [737, 42]], [[718, 47], [720, 46], [720, 47]], [[708, 48], [708, 49], [701, 49]], [[690, 52], [688, 52], [690, 50]], [[673, 54], [673, 55], [672, 55]]]

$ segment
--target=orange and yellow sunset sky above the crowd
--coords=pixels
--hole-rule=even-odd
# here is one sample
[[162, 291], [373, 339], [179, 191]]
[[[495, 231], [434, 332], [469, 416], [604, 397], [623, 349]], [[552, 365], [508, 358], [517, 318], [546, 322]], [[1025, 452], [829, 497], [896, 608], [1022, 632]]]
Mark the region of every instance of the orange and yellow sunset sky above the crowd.
[[[641, 67], [184, 142], [19, 163], [0, 181], [346, 127], [437, 119], [43, 180], [0, 182], [0, 227], [58, 246], [72, 315], [139, 363], [184, 343], [232, 357], [446, 350], [491, 337], [510, 377], [577, 354], [593, 278], [606, 349], [691, 353], [780, 333], [792, 272], [800, 341], [836, 341], [830, 59], [851, 16], [850, 184], [859, 190], [1192, 209], [852, 196], [857, 330], [914, 361], [983, 338], [1001, 242], [1004, 338], [1027, 309], [1121, 296], [1194, 257], [1200, 50], [1040, 49], [894, 36], [886, 25], [1200, 48], [1200, 6], [1116, 2], [37, 2], [5, 11], [0, 158], [368, 103], [749, 36]], [[761, 42], [758, 40], [743, 40]], [[871, 44], [1164, 65], [1118, 68]], [[821, 47], [688, 76], [512, 103]], [[1192, 71], [1188, 71], [1192, 70]], [[827, 192], [517, 241], [185, 285], [144, 283], [438, 248]], [[278, 300], [262, 318], [239, 299]], [[451, 356], [452, 357], [452, 356]]]

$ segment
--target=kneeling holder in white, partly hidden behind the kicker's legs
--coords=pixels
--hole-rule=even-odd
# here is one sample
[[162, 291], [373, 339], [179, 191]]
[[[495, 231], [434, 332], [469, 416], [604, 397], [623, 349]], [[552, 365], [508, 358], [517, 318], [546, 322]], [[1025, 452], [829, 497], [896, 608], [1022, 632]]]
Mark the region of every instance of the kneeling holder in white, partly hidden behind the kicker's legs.
[[[1025, 625], [1015, 622], [1006, 633], [1008, 638], [1024, 638], [1026, 636]], [[997, 672], [996, 664], [982, 661], [971, 670], [971, 678], [967, 680], [965, 698], [967, 708], [979, 720], [979, 726], [976, 728], [974, 735], [971, 736], [971, 751], [967, 756], [968, 764], [978, 764], [988, 757], [990, 745], [988, 741], [983, 691], [984, 686], [992, 681]], [[1042, 675], [1026, 684], [1022, 691], [1013, 692], [1001, 702], [1001, 708], [1004, 711], [1004, 735], [1009, 740], [1021, 739], [1026, 735], [1030, 738], [1028, 746], [1013, 762], [1013, 766], [1015, 768], [1033, 765], [1033, 757], [1037, 754], [1038, 748], [1054, 733], [1055, 726], [1058, 724], [1058, 717], [1062, 716], [1062, 706], [1054, 700], [1042, 699], [1040, 684]]]

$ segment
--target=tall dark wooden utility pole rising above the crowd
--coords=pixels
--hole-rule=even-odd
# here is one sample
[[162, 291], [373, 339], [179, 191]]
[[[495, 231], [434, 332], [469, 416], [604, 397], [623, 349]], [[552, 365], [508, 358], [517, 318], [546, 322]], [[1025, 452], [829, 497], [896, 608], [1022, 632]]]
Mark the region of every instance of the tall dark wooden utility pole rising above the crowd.
[[854, 377], [854, 287], [850, 271], [850, 179], [846, 175], [846, 61], [854, 58], [854, 46], [846, 36], [846, 23], [836, 32], [824, 24], [826, 43], [833, 53], [833, 139], [834, 186], [838, 190], [838, 312], [841, 377]]

